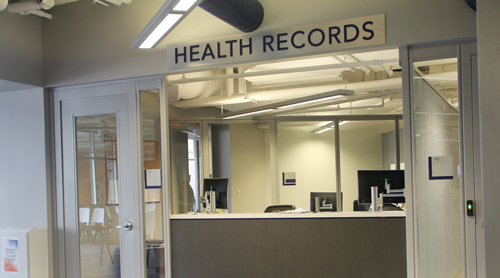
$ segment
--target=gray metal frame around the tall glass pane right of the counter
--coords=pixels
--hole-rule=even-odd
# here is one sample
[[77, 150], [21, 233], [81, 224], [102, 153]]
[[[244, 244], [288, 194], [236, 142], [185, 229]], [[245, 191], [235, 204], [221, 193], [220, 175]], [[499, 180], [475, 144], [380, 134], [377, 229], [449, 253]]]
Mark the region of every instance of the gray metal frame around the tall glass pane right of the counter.
[[[414, 50], [418, 50], [419, 57], [415, 57]], [[415, 184], [415, 134], [413, 109], [413, 62], [414, 60], [447, 58], [450, 54], [458, 60], [458, 86], [459, 86], [459, 125], [460, 125], [460, 164], [461, 168], [461, 210], [462, 210], [462, 269], [464, 277], [482, 277], [480, 260], [481, 254], [479, 224], [476, 216], [467, 217], [465, 214], [465, 201], [474, 200], [475, 204], [481, 202], [481, 188], [478, 175], [480, 171], [479, 141], [474, 131], [479, 129], [478, 102], [477, 102], [477, 74], [473, 77], [471, 57], [477, 54], [475, 42], [463, 44], [444, 44], [434, 46], [402, 46], [400, 47], [400, 61], [403, 79], [403, 123], [404, 128], [404, 155], [405, 169], [410, 170], [405, 175], [406, 187], [406, 237], [407, 237], [407, 272], [408, 277], [419, 277], [418, 273], [418, 230], [417, 211], [415, 210], [416, 188]], [[476, 132], [477, 133], [477, 132]], [[480, 209], [479, 205], [475, 206]], [[477, 211], [477, 213], [482, 211]], [[479, 222], [479, 221], [478, 221]], [[476, 234], [477, 232], [477, 234]]]

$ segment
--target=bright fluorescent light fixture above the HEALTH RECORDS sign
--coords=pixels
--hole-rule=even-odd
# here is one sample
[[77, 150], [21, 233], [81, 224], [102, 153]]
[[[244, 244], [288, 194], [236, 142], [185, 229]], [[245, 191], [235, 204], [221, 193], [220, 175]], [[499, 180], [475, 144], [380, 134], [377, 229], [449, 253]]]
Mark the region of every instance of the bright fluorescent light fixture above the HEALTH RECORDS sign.
[[154, 48], [202, 0], [167, 0], [135, 38], [132, 48]]

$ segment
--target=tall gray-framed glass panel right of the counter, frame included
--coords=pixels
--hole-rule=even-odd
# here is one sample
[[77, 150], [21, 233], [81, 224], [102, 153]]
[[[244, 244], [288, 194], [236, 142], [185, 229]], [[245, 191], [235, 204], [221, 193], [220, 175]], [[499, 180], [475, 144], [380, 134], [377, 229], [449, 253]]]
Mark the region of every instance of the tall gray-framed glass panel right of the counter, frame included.
[[409, 277], [477, 275], [475, 217], [466, 214], [466, 201], [475, 201], [473, 103], [465, 101], [472, 100], [472, 86], [460, 82], [461, 50], [452, 45], [401, 53], [411, 92], [405, 106], [405, 125], [411, 126], [406, 154], [412, 158], [406, 167], [412, 174]]

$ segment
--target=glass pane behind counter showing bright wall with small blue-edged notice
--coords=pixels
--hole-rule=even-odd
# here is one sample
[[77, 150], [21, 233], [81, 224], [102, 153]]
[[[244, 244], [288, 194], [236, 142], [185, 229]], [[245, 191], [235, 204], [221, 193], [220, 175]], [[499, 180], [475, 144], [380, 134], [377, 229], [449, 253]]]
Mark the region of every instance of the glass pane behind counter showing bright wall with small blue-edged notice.
[[328, 121], [279, 122], [279, 204], [310, 209], [312, 192], [336, 192], [335, 135]]

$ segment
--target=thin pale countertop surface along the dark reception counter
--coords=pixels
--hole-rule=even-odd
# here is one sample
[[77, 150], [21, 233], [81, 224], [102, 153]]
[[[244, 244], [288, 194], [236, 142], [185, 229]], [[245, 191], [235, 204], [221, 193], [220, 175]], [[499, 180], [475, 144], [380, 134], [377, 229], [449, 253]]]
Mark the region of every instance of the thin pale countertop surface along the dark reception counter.
[[194, 219], [293, 219], [293, 218], [386, 218], [406, 217], [405, 211], [383, 211], [383, 212], [319, 212], [319, 213], [188, 213], [170, 216], [172, 220], [194, 220]]

